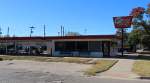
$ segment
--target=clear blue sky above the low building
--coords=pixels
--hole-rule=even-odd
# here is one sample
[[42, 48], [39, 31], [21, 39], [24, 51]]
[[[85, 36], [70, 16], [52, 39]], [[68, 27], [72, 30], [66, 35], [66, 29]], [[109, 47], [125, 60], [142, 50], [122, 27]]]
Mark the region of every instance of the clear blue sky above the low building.
[[[65, 31], [81, 34], [114, 34], [112, 17], [126, 16], [132, 8], [146, 7], [149, 0], [0, 0], [0, 27], [3, 35], [34, 36], [58, 35], [60, 26]], [[85, 29], [87, 32], [85, 33]]]

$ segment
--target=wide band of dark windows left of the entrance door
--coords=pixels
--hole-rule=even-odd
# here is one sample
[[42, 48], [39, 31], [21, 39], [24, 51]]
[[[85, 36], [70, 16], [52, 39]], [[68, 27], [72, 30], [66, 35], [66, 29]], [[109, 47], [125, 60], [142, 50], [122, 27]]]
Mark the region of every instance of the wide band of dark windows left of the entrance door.
[[102, 51], [100, 41], [64, 41], [55, 42], [56, 51]]

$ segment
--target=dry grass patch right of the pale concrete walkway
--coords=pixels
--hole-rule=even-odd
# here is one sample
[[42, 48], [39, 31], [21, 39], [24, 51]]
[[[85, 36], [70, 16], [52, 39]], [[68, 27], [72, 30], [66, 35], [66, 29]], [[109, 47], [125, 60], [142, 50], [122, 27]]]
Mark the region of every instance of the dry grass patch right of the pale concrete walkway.
[[143, 77], [150, 77], [150, 61], [135, 61], [132, 71]]

